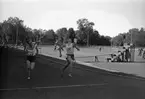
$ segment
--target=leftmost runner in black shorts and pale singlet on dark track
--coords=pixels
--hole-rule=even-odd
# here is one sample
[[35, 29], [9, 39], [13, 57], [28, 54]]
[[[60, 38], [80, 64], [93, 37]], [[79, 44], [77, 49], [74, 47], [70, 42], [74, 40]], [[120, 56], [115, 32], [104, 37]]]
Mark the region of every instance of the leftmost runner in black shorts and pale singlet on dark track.
[[36, 54], [38, 54], [37, 44], [30, 41], [27, 41], [27, 70], [28, 70], [28, 78], [31, 79], [31, 71], [35, 67], [35, 60], [36, 60]]

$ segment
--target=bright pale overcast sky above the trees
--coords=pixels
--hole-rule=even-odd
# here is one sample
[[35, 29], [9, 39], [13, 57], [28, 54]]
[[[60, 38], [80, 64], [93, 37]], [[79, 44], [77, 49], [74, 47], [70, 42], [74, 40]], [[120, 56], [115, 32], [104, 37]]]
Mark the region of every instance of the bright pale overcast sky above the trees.
[[0, 22], [19, 17], [32, 29], [73, 27], [87, 18], [101, 35], [114, 37], [145, 27], [145, 0], [0, 0]]

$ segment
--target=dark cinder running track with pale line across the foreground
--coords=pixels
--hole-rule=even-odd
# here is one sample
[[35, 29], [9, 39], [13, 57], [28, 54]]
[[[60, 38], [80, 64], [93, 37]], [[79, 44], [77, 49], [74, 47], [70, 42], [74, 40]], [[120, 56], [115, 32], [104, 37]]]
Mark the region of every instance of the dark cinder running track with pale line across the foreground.
[[64, 62], [39, 55], [32, 79], [27, 80], [24, 52], [1, 48], [0, 55], [0, 99], [145, 99], [144, 79], [87, 71], [79, 65], [72, 78], [66, 71], [61, 79]]

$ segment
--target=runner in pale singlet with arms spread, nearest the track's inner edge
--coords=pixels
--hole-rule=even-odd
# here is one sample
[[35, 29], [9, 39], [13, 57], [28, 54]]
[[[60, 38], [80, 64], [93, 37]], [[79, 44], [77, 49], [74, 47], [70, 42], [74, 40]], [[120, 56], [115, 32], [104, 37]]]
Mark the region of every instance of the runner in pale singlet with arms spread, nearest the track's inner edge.
[[72, 77], [72, 67], [73, 64], [75, 63], [75, 58], [74, 58], [74, 48], [76, 48], [78, 51], [80, 50], [75, 43], [72, 43], [71, 39], [68, 39], [68, 42], [63, 46], [66, 48], [66, 61], [67, 64], [65, 67], [62, 69], [61, 77], [63, 77], [63, 73], [67, 67], [69, 68], [69, 76]]

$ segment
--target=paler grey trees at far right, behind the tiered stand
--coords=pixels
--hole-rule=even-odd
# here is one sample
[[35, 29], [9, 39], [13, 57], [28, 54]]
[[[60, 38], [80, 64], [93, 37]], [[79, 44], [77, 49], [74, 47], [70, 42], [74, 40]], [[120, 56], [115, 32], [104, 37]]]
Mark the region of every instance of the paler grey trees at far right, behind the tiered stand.
[[112, 45], [123, 46], [124, 43], [134, 44], [137, 47], [145, 46], [145, 29], [142, 27], [129, 29], [127, 33], [120, 33], [111, 39]]

